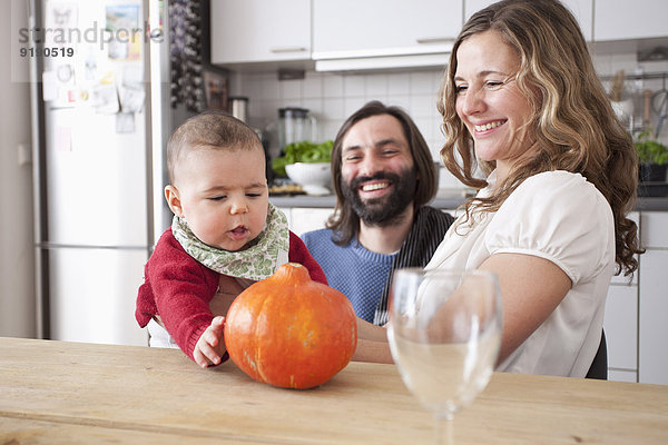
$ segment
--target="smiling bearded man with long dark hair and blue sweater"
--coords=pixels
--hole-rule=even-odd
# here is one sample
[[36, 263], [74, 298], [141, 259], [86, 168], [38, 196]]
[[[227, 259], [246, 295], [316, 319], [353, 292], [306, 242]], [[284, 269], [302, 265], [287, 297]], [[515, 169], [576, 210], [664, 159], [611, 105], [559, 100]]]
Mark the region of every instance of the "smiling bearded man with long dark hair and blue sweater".
[[393, 270], [424, 267], [454, 218], [426, 206], [438, 176], [424, 138], [399, 107], [372, 101], [343, 123], [332, 150], [336, 208], [302, 235], [330, 286], [357, 317], [387, 322]]

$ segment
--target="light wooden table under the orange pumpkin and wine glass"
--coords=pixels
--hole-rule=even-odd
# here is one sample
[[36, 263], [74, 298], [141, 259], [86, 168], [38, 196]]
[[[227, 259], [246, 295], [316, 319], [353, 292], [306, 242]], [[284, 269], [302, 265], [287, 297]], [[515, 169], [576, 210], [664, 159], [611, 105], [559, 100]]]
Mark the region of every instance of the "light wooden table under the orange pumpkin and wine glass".
[[[175, 349], [0, 338], [0, 445], [413, 445], [432, 426], [393, 365], [351, 363], [292, 390]], [[668, 444], [668, 386], [495, 373], [454, 439]]]

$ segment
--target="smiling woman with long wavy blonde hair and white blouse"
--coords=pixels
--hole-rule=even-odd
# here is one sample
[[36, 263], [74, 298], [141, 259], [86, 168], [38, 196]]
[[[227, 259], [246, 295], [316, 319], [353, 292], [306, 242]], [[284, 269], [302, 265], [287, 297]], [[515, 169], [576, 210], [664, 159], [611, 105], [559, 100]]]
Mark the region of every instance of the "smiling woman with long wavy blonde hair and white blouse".
[[571, 12], [509, 0], [472, 16], [439, 111], [445, 167], [480, 191], [426, 267], [498, 274], [498, 370], [586, 376], [610, 278], [638, 266], [638, 174]]

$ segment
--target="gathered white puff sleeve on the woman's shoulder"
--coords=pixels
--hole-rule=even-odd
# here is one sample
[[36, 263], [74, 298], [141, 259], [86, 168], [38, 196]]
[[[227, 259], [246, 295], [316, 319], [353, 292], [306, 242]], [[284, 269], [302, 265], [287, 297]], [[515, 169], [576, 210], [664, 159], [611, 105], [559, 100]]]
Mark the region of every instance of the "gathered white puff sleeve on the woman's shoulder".
[[615, 226], [606, 198], [581, 175], [548, 171], [522, 182], [490, 221], [490, 255], [546, 258], [572, 284], [615, 261]]

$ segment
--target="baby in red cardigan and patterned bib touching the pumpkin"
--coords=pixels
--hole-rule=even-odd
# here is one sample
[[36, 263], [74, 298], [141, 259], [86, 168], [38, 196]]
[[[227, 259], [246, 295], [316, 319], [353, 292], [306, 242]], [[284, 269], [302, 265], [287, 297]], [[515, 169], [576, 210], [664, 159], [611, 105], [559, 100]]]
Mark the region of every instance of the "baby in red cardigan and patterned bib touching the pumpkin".
[[240, 120], [188, 119], [169, 139], [167, 169], [174, 220], [146, 264], [135, 317], [150, 346], [178, 345], [199, 366], [218, 365], [224, 316], [242, 290], [287, 261], [320, 283], [325, 274], [269, 204], [263, 146]]

